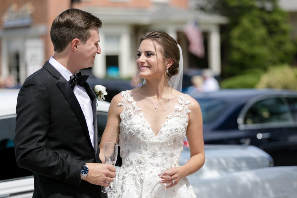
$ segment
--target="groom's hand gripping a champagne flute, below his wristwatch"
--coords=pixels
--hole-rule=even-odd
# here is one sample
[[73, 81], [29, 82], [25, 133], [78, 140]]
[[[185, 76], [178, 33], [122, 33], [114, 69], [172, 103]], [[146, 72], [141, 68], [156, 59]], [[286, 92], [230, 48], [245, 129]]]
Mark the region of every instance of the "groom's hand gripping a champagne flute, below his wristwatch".
[[100, 186], [109, 186], [113, 182], [113, 178], [116, 177], [116, 168], [108, 164], [99, 164], [99, 163], [87, 163], [89, 168], [88, 175], [83, 179], [89, 183], [100, 185]]

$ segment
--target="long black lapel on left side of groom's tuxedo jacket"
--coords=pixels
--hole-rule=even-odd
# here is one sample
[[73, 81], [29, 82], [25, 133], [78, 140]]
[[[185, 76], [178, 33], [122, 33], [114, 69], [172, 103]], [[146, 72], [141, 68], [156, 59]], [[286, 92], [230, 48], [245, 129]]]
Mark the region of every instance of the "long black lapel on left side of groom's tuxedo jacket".
[[[83, 131], [86, 134], [86, 137], [88, 137], [88, 141], [89, 141], [90, 145], [92, 145], [90, 135], [89, 135], [89, 129], [88, 129], [88, 126], [87, 126], [87, 123], [86, 123], [86, 118], [85, 118], [85, 116], [83, 114], [83, 111], [81, 110], [80, 104], [79, 104], [78, 100], [76, 99], [76, 97], [75, 97], [75, 95], [73, 93], [73, 90], [70, 87], [68, 81], [65, 80], [65, 78], [50, 63], [48, 63], [48, 61], [45, 63], [45, 65], [43, 67], [46, 70], [48, 70], [48, 72], [50, 72], [50, 74], [53, 77], [58, 79], [57, 82], [56, 82], [57, 86], [59, 87], [62, 94], [65, 96], [65, 98], [69, 102], [73, 112], [75, 113], [75, 115], [78, 118], [81, 126], [83, 127]], [[95, 95], [95, 98], [96, 98], [96, 95]], [[94, 110], [93, 110], [93, 112], [94, 112]]]

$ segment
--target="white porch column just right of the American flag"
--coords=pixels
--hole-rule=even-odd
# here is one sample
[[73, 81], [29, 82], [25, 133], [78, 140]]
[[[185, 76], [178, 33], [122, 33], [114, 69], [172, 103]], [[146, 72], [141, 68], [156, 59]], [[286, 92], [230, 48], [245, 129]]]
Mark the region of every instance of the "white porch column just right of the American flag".
[[213, 71], [214, 75], [221, 74], [221, 54], [220, 47], [221, 39], [219, 27], [216, 26], [208, 33], [208, 62], [209, 68]]

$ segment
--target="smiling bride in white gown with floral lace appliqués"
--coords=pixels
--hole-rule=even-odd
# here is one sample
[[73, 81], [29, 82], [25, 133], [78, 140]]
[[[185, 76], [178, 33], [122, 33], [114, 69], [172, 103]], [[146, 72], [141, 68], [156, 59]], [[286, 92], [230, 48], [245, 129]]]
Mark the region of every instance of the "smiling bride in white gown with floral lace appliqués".
[[[111, 197], [196, 197], [186, 176], [205, 161], [202, 115], [198, 102], [175, 88], [182, 74], [177, 42], [162, 31], [143, 34], [137, 51], [137, 69], [145, 83], [114, 96], [100, 142], [104, 163], [106, 142], [117, 142], [122, 158]], [[181, 66], [179, 66], [181, 65]], [[181, 68], [179, 68], [181, 67]], [[180, 71], [180, 72], [178, 72]], [[171, 86], [170, 86], [171, 85]], [[187, 137], [190, 159], [179, 166]], [[172, 169], [160, 173], [162, 154], [173, 156]]]

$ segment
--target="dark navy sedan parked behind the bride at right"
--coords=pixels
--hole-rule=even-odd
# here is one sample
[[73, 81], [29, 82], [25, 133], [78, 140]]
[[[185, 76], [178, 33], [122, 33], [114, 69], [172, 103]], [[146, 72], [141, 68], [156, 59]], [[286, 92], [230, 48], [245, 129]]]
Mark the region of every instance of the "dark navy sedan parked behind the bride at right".
[[297, 165], [297, 92], [276, 89], [222, 89], [189, 93], [203, 115], [205, 144], [251, 144], [275, 166]]

